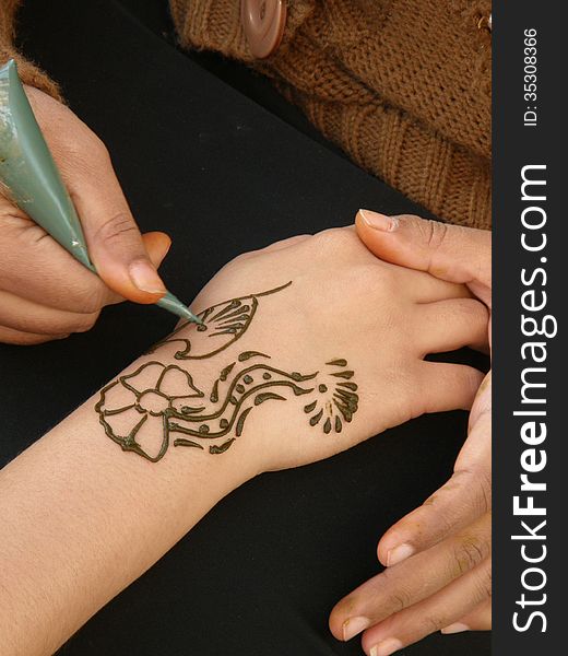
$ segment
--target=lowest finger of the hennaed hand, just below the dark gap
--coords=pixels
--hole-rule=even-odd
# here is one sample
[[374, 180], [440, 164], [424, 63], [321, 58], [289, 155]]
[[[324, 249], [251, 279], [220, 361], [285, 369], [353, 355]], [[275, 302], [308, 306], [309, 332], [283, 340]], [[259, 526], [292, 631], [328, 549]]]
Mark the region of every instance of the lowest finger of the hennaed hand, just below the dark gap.
[[421, 388], [416, 390], [421, 410], [446, 412], [470, 410], [483, 380], [482, 372], [465, 364], [422, 362]]

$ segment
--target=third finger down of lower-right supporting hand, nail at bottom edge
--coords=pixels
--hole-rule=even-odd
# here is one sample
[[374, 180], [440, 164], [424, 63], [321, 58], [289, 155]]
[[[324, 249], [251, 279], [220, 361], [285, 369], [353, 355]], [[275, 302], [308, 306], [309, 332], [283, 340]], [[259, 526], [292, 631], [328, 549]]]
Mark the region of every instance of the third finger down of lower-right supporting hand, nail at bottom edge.
[[368, 629], [363, 648], [369, 656], [390, 656], [430, 633], [453, 624], [492, 597], [490, 558], [424, 601]]

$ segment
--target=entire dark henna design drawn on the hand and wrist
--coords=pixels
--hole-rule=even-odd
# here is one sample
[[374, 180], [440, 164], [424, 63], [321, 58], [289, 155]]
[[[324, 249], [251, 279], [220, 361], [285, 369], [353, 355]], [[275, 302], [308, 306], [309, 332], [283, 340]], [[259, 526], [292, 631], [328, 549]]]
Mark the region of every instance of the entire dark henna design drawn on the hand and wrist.
[[[259, 297], [289, 284], [214, 305], [199, 315], [203, 326], [192, 325], [191, 339], [176, 337], [188, 326], [182, 324], [150, 352], [176, 343], [176, 348], [182, 345], [174, 355], [177, 360], [213, 358], [248, 329]], [[205, 332], [208, 339], [217, 340], [205, 341]], [[171, 437], [174, 446], [203, 449], [208, 443], [210, 454], [226, 452], [241, 436], [253, 408], [267, 401], [306, 397], [308, 424], [320, 425], [326, 434], [341, 433], [343, 423], [352, 421], [358, 396], [346, 360], [331, 360], [322, 372], [309, 374], [286, 372], [268, 360], [271, 356], [265, 353], [242, 351], [221, 370], [206, 397], [189, 371], [152, 360], [104, 387], [95, 410], [108, 437], [122, 450], [134, 452], [152, 462], [164, 457]]]

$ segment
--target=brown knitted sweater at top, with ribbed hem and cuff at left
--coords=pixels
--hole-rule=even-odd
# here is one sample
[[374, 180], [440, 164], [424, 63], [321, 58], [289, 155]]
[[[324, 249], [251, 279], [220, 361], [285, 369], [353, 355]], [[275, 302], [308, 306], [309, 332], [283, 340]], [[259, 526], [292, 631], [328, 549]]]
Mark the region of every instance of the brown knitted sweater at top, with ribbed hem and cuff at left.
[[[0, 0], [0, 61], [20, 0]], [[170, 0], [182, 47], [274, 80], [360, 166], [437, 215], [490, 226], [490, 0], [287, 0], [283, 40], [256, 60], [240, 0]], [[20, 60], [28, 84], [57, 94]], [[378, 208], [380, 209], [380, 208]]]

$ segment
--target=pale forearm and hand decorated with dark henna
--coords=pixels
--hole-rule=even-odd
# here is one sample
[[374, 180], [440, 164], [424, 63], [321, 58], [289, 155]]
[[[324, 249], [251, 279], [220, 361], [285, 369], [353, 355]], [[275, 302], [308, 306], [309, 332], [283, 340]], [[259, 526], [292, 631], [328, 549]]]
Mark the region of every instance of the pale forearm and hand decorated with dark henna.
[[353, 229], [237, 258], [193, 307], [203, 326], [182, 325], [0, 471], [2, 654], [52, 654], [259, 471], [470, 408], [482, 378], [423, 358], [483, 342], [485, 307], [379, 261]]

